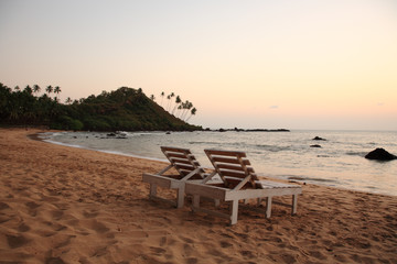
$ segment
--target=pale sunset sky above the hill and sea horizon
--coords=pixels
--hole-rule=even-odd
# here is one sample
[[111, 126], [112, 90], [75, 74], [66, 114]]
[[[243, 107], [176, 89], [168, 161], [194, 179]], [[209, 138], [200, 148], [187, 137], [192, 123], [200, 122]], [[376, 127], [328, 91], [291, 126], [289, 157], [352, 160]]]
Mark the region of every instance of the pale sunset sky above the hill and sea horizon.
[[0, 62], [63, 101], [174, 92], [203, 128], [397, 130], [393, 0], [0, 0]]

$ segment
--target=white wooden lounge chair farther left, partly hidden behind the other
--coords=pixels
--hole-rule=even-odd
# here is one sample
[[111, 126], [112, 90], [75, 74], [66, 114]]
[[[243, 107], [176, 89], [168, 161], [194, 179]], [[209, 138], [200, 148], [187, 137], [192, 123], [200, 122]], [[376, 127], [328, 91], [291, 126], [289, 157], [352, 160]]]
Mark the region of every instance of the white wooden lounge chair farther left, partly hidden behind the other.
[[[161, 169], [157, 174], [143, 174], [142, 180], [150, 184], [150, 199], [160, 199], [169, 201], [182, 208], [184, 204], [184, 187], [186, 180], [202, 182], [207, 176], [204, 169], [201, 167], [197, 160], [191, 153], [190, 150], [179, 147], [161, 146], [161, 151], [165, 157], [170, 161], [170, 165]], [[169, 169], [174, 168], [178, 174], [165, 174]], [[163, 199], [157, 195], [157, 187], [163, 187], [176, 190], [176, 202]]]

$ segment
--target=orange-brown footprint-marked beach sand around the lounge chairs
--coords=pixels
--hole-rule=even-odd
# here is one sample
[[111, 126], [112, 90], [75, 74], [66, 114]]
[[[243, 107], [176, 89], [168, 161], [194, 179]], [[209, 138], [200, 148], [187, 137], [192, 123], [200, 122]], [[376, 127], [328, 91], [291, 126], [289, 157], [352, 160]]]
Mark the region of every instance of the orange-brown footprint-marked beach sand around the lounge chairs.
[[141, 174], [163, 163], [36, 132], [0, 129], [0, 263], [397, 263], [397, 197], [304, 185], [297, 216], [230, 227], [150, 201]]

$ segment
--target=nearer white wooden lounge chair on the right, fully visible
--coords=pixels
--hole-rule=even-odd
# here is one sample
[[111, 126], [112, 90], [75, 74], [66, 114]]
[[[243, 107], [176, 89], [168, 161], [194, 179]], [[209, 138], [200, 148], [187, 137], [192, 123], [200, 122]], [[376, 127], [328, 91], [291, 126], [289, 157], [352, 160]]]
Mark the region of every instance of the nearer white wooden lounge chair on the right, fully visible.
[[[246, 158], [244, 152], [205, 150], [215, 172], [221, 176], [221, 184], [211, 184], [211, 175], [202, 183], [186, 183], [185, 194], [193, 195], [193, 211], [224, 217], [230, 220], [230, 224], [237, 223], [239, 200], [267, 198], [266, 218], [271, 215], [272, 197], [292, 196], [292, 205], [281, 204], [291, 207], [292, 215], [297, 213], [298, 195], [302, 193], [299, 185], [281, 184], [272, 180], [259, 180]], [[230, 213], [221, 213], [200, 207], [200, 197], [230, 201]], [[276, 204], [276, 202], [275, 202]], [[278, 202], [279, 204], [279, 202]]]

